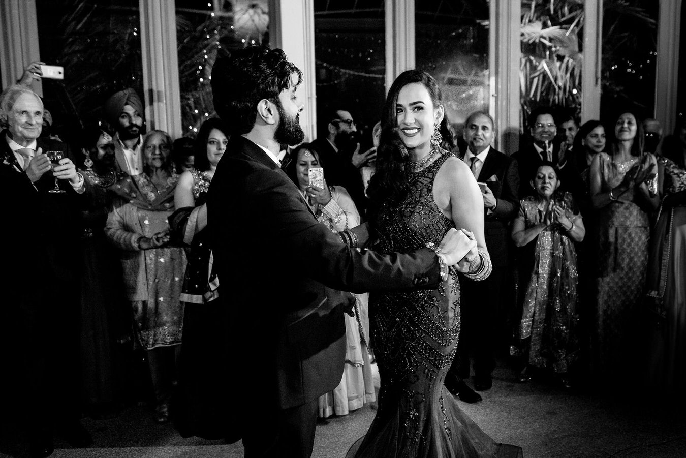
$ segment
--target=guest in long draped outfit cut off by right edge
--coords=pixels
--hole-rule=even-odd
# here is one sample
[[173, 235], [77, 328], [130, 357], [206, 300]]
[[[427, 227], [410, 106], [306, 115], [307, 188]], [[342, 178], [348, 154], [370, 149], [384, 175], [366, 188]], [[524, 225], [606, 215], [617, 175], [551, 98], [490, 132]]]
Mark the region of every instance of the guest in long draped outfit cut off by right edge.
[[[670, 141], [667, 141], [667, 140]], [[648, 382], [686, 398], [686, 120], [665, 138], [658, 163], [665, 196], [651, 236], [646, 289], [650, 306]]]

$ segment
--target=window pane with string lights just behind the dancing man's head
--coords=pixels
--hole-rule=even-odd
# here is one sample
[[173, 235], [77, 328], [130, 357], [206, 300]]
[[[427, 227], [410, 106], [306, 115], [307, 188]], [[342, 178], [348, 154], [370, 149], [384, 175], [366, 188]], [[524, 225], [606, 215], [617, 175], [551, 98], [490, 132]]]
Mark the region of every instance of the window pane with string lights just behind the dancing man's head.
[[226, 51], [269, 44], [268, 0], [176, 0], [176, 41], [182, 128], [198, 132], [216, 115], [210, 86], [212, 66]]

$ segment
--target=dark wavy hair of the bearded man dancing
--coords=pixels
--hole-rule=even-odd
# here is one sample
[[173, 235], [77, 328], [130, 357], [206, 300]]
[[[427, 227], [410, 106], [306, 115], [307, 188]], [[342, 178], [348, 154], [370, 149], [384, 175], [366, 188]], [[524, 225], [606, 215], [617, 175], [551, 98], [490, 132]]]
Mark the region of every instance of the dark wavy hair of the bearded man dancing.
[[251, 46], [233, 51], [217, 59], [212, 68], [212, 95], [217, 115], [241, 135], [255, 126], [257, 103], [266, 99], [281, 106], [279, 94], [289, 89], [292, 76], [296, 86], [303, 81], [303, 72], [289, 62], [281, 49]]

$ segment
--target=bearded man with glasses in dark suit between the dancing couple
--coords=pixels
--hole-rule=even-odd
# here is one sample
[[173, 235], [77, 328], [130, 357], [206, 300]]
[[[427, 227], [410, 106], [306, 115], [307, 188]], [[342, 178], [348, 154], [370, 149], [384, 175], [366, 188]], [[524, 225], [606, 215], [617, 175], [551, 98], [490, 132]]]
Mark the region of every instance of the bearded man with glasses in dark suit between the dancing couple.
[[324, 119], [328, 119], [327, 136], [312, 141], [312, 147], [319, 153], [327, 185], [344, 187], [353, 198], [357, 211], [364, 218], [367, 201], [360, 171], [374, 159], [376, 150], [372, 148], [360, 153], [357, 126], [350, 111], [338, 106], [326, 116]]

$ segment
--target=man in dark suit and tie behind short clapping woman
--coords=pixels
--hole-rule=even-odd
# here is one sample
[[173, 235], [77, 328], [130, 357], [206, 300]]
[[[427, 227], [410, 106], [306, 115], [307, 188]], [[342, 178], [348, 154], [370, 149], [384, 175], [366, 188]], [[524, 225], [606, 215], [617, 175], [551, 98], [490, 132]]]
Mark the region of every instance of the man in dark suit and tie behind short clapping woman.
[[[557, 135], [557, 125], [553, 110], [549, 106], [539, 106], [529, 116], [530, 141], [512, 154], [519, 169], [519, 183], [522, 183], [520, 197], [532, 195], [534, 190], [525, 183], [529, 183], [536, 169], [543, 162], [552, 162], [560, 170], [560, 191], [576, 193], [583, 183], [569, 156], [567, 144]], [[564, 145], [560, 148], [560, 145]]]

